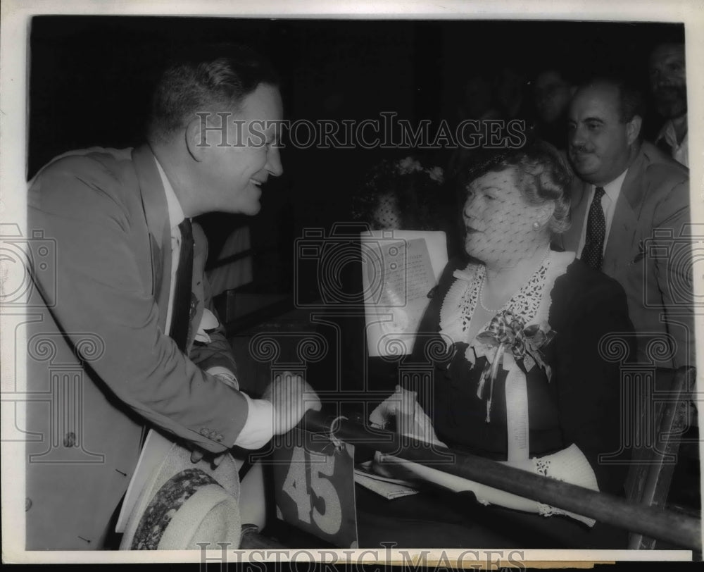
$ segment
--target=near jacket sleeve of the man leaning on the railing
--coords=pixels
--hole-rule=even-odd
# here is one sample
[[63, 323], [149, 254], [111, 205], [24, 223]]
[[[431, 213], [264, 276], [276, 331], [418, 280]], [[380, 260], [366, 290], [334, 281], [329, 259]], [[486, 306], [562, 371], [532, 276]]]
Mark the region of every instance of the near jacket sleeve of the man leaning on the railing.
[[[125, 189], [137, 193], [134, 170], [86, 157], [56, 161], [34, 180], [30, 228], [56, 240], [51, 313], [70, 340], [82, 332], [100, 337], [102, 354], [85, 369], [108, 393], [161, 428], [220, 452], [244, 426], [246, 398], [204, 373], [161, 331], [151, 272], [137, 254], [144, 256], [150, 237]], [[81, 359], [82, 348], [75, 352]]]

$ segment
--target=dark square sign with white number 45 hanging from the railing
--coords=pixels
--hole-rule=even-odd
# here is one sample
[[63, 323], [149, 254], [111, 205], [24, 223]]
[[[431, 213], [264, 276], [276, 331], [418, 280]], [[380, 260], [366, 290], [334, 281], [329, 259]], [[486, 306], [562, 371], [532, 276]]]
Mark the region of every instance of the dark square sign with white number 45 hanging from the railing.
[[[354, 447], [301, 432], [303, 446], [274, 451], [278, 518], [338, 547], [357, 547]], [[285, 439], [285, 437], [284, 437]]]

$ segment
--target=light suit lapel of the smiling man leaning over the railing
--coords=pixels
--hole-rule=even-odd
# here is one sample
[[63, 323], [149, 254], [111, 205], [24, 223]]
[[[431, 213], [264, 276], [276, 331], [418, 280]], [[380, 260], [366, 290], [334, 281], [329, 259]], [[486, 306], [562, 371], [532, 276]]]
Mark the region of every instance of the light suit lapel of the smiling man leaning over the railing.
[[159, 307], [159, 325], [165, 332], [166, 309], [171, 287], [171, 229], [166, 194], [156, 168], [156, 158], [147, 145], [132, 151], [142, 206], [151, 244], [152, 295]]

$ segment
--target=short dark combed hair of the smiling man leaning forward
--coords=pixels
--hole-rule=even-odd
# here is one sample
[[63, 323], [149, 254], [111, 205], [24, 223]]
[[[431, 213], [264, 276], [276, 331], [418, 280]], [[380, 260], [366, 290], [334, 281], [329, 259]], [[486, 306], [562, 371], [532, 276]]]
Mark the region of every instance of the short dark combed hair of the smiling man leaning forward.
[[151, 100], [150, 142], [170, 139], [195, 113], [217, 106], [239, 111], [259, 85], [278, 87], [279, 77], [256, 51], [238, 44], [207, 44], [177, 56], [163, 70]]

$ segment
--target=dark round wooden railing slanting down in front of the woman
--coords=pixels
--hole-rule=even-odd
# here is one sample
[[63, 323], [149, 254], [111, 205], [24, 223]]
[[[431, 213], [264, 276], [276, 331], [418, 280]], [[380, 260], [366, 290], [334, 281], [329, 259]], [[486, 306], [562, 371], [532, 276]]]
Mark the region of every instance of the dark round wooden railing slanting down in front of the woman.
[[[313, 433], [329, 434], [332, 421], [325, 414], [308, 411], [302, 426]], [[701, 550], [701, 521], [692, 516], [656, 506], [634, 504], [615, 495], [528, 473], [480, 456], [451, 452], [441, 447], [432, 449], [409, 437], [399, 439], [390, 431], [372, 430], [351, 421], [335, 421], [334, 428], [335, 437], [346, 442], [364, 444], [382, 453], [394, 454], [401, 459], [582, 514], [631, 532]], [[450, 460], [448, 455], [451, 455]]]

